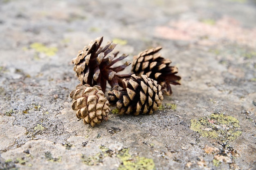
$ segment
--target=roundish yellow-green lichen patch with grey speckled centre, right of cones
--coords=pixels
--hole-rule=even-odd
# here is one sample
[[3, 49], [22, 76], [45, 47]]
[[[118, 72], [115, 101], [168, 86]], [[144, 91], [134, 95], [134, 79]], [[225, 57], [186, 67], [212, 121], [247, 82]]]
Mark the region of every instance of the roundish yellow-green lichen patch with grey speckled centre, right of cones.
[[211, 137], [222, 142], [232, 141], [242, 134], [239, 121], [228, 115], [213, 113], [209, 117], [191, 119], [191, 130], [203, 137]]

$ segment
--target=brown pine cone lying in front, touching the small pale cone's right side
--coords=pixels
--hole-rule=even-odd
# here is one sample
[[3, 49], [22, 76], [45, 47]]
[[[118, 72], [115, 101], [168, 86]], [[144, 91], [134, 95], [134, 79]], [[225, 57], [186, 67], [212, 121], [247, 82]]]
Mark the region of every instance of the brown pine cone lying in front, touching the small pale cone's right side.
[[131, 79], [123, 79], [125, 89], [113, 90], [108, 93], [107, 99], [110, 104], [117, 105], [119, 114], [134, 115], [152, 114], [162, 104], [164, 99], [161, 86], [157, 81], [148, 78], [146, 75], [131, 75]]

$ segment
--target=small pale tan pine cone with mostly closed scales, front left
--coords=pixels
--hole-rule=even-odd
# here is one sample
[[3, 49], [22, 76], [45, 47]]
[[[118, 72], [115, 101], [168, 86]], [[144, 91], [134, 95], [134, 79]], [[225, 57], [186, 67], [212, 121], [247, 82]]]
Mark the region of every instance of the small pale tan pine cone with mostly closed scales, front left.
[[72, 109], [77, 110], [76, 117], [83, 119], [84, 124], [95, 126], [103, 119], [107, 120], [110, 111], [109, 102], [100, 86], [79, 84], [70, 93], [70, 97], [73, 99]]

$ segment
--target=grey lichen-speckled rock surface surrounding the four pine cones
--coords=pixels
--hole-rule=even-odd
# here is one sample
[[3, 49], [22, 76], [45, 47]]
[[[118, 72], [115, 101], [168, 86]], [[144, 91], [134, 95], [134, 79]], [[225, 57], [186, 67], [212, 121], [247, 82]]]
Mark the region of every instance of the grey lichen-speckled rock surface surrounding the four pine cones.
[[[255, 0], [0, 0], [1, 170], [255, 170]], [[91, 40], [162, 46], [179, 68], [152, 115], [95, 127], [71, 108]], [[127, 68], [127, 72], [131, 66]]]

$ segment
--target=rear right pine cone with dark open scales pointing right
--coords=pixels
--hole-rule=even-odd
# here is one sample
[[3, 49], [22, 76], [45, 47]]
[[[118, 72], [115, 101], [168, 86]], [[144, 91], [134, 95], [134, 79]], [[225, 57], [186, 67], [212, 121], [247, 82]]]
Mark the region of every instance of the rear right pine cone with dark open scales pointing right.
[[162, 89], [166, 89], [166, 95], [171, 95], [172, 90], [170, 84], [180, 85], [180, 76], [176, 66], [169, 66], [171, 60], [161, 57], [160, 51], [162, 47], [147, 49], [138, 55], [135, 55], [132, 61], [132, 72], [137, 76], [145, 74], [149, 78], [157, 80]]

